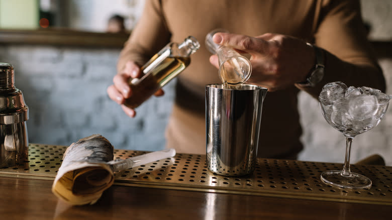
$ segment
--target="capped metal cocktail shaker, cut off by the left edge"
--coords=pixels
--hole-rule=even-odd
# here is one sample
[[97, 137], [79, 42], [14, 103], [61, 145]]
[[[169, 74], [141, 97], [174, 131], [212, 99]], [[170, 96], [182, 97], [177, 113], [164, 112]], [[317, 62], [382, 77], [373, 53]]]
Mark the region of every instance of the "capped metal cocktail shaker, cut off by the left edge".
[[0, 63], [0, 168], [21, 164], [28, 158], [29, 107], [14, 82], [14, 67]]

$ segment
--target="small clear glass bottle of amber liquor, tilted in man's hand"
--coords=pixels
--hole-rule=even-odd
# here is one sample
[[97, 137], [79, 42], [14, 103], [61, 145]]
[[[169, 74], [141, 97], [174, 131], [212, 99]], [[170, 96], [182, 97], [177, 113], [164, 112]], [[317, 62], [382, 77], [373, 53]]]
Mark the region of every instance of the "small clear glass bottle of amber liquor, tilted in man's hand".
[[144, 75], [131, 79], [131, 97], [124, 104], [136, 108], [151, 97], [159, 88], [175, 78], [190, 63], [190, 54], [200, 48], [200, 43], [192, 36], [180, 43], [169, 43], [141, 67]]

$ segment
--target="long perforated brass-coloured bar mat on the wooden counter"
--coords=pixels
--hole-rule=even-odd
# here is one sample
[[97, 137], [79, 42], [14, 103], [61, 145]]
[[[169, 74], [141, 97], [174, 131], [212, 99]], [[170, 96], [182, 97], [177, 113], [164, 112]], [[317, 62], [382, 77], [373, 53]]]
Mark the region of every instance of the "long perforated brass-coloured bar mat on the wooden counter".
[[[19, 167], [0, 169], [0, 176], [53, 180], [66, 148], [30, 144], [29, 161]], [[115, 158], [144, 153], [147, 152], [115, 150]], [[205, 155], [177, 153], [173, 158], [117, 172], [114, 184], [392, 205], [392, 167], [352, 165], [353, 172], [372, 180], [370, 189], [340, 189], [321, 182], [321, 172], [340, 169], [342, 164], [258, 159], [253, 175], [227, 177], [210, 172]]]

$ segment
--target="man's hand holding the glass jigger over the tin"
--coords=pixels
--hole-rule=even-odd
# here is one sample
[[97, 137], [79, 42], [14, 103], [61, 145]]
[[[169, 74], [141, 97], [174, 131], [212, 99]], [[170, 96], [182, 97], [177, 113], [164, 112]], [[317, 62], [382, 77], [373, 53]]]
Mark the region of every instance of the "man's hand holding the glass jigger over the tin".
[[[283, 89], [305, 78], [315, 63], [314, 49], [298, 38], [263, 34], [257, 37], [216, 33], [215, 43], [249, 53], [252, 74], [249, 83], [268, 88], [268, 91]], [[217, 55], [210, 62], [219, 68]]]

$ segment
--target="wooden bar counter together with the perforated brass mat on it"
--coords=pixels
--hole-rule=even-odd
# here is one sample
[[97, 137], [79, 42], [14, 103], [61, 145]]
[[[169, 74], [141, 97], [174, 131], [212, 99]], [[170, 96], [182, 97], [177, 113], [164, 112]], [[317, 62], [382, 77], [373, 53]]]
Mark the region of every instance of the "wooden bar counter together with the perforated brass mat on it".
[[[0, 169], [0, 219], [358, 220], [392, 216], [392, 167], [354, 166], [354, 171], [367, 170], [363, 172], [375, 180], [374, 185], [370, 190], [346, 191], [319, 181], [318, 170], [341, 164], [259, 159], [253, 175], [225, 177], [205, 170], [204, 155], [189, 154], [116, 173], [115, 184], [95, 204], [70, 206], [51, 192], [64, 150], [30, 145], [28, 164]], [[141, 153], [116, 150], [115, 157]]]

